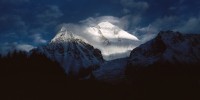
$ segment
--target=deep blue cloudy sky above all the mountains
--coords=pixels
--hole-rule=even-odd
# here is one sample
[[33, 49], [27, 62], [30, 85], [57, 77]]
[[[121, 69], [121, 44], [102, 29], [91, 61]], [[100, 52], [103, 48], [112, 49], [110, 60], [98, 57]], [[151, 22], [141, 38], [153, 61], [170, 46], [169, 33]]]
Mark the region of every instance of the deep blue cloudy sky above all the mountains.
[[45, 45], [65, 23], [111, 21], [142, 40], [200, 33], [199, 9], [199, 0], [0, 0], [0, 53]]

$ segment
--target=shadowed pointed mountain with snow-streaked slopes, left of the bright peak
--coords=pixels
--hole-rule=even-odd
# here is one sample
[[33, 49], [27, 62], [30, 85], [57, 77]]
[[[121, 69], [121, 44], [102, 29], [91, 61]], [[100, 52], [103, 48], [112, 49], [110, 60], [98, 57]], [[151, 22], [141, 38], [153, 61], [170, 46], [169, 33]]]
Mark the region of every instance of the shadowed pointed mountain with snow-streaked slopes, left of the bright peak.
[[48, 45], [34, 51], [59, 62], [67, 74], [75, 76], [87, 75], [104, 62], [100, 50], [75, 38], [73, 33], [62, 30]]

